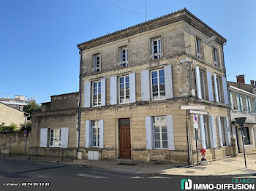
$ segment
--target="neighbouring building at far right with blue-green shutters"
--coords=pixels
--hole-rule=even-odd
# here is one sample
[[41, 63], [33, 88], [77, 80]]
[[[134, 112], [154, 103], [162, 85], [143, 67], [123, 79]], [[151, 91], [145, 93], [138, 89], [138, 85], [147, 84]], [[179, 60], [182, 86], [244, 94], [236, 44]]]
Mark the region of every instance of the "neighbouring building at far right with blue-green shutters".
[[[240, 77], [240, 78], [239, 78]], [[255, 85], [247, 85], [244, 77], [238, 76], [238, 82], [227, 82], [230, 94], [230, 110], [233, 137], [236, 138], [238, 153], [243, 152], [243, 144], [240, 126], [236, 122], [236, 117], [246, 117], [244, 123], [244, 149], [246, 152], [255, 150], [256, 144], [256, 94]]]

